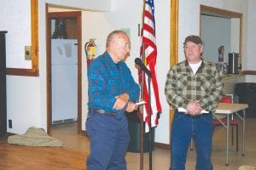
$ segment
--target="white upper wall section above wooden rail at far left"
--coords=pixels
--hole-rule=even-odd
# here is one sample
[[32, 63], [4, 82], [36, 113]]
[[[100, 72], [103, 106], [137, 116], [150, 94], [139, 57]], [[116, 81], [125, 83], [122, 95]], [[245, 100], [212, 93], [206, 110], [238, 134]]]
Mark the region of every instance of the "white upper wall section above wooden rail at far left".
[[[22, 1], [17, 3], [15, 0], [0, 0], [0, 29], [8, 31], [6, 34], [7, 67], [31, 68], [32, 65], [32, 62], [25, 60], [24, 56], [25, 46], [31, 45], [30, 1]], [[26, 8], [28, 10], [24, 10]]]

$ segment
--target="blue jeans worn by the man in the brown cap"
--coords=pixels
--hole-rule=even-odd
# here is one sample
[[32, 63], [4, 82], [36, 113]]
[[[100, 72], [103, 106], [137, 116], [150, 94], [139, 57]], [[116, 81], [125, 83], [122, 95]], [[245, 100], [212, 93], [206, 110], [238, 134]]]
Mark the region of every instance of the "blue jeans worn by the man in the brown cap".
[[191, 117], [175, 111], [172, 121], [170, 170], [185, 170], [191, 138], [196, 150], [195, 169], [212, 170], [212, 133], [212, 114]]

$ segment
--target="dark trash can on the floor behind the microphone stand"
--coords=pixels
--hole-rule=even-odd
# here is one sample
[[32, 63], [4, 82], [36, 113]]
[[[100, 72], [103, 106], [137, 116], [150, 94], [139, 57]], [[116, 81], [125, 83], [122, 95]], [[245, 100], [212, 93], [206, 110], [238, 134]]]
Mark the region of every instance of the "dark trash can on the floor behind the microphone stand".
[[[130, 144], [127, 151], [130, 152], [140, 152], [140, 143], [141, 143], [141, 125], [140, 125], [140, 119], [137, 116], [137, 111], [134, 111], [132, 113], [126, 113], [125, 114], [128, 120], [128, 128], [130, 133]], [[145, 126], [144, 126], [145, 127]], [[143, 130], [143, 152], [149, 152], [150, 150], [150, 135], [149, 133], [145, 133], [145, 130]], [[151, 130], [151, 150], [154, 150], [154, 127]]]

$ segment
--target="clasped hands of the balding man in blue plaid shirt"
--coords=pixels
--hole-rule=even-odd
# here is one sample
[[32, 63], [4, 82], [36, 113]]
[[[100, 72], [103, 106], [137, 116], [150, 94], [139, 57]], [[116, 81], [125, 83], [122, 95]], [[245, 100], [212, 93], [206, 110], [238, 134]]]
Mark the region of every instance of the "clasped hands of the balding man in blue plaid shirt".
[[127, 108], [125, 111], [127, 112], [132, 112], [137, 110], [137, 105], [129, 101], [129, 95], [128, 94], [119, 94], [118, 96], [115, 97], [115, 102], [113, 104], [113, 109], [115, 110], [122, 110], [125, 105], [127, 104]]

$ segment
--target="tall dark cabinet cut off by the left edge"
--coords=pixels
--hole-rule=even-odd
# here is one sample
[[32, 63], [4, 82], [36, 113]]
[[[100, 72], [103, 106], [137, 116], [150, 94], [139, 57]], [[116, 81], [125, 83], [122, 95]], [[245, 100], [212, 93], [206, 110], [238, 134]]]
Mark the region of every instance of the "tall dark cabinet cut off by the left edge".
[[6, 111], [6, 45], [5, 34], [0, 31], [0, 136], [4, 136], [7, 130]]

